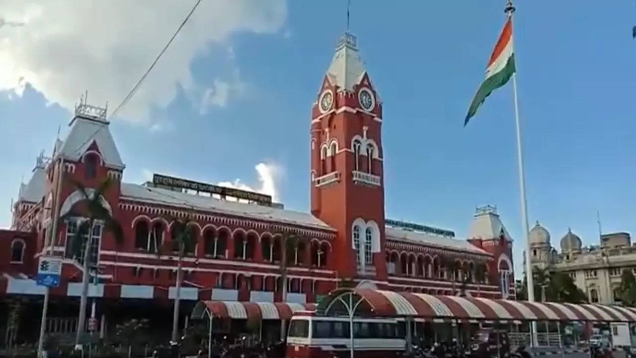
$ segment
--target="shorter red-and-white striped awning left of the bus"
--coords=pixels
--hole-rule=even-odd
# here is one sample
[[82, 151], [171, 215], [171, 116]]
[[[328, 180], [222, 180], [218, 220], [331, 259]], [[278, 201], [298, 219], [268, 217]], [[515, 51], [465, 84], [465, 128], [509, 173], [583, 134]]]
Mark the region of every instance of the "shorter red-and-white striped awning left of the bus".
[[315, 311], [315, 303], [199, 301], [193, 319], [212, 316], [221, 319], [279, 320], [291, 319], [295, 311]]

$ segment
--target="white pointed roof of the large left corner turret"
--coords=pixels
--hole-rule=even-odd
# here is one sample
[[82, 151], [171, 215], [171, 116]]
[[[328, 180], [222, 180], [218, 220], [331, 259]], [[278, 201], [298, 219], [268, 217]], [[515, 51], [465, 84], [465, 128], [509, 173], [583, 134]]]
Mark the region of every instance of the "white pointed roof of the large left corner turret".
[[71, 132], [67, 136], [59, 153], [64, 159], [79, 161], [80, 157], [88, 150], [93, 142], [97, 144], [104, 165], [110, 168], [123, 169], [125, 165], [121, 161], [119, 150], [108, 129], [106, 120], [88, 118], [76, 115], [71, 121]]

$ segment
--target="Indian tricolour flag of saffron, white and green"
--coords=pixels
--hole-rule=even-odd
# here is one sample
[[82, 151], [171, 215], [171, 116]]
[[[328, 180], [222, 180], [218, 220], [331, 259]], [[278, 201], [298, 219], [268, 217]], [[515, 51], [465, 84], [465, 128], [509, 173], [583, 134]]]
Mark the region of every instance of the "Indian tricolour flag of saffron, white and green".
[[506, 22], [495, 50], [490, 55], [490, 61], [486, 68], [486, 79], [481, 83], [477, 94], [471, 102], [470, 108], [464, 120], [464, 126], [475, 115], [486, 97], [495, 89], [498, 89], [515, 73], [515, 52], [513, 51], [513, 24], [510, 18]]

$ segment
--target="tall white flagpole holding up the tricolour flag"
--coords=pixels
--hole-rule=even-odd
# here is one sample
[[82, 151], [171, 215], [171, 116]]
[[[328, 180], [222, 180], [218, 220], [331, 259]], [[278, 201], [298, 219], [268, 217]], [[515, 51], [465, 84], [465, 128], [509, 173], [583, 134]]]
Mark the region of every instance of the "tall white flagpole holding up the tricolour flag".
[[[513, 13], [515, 13], [515, 6], [513, 5], [511, 0], [508, 0], [506, 3], [506, 15], [512, 20]], [[514, 42], [514, 34], [515, 31], [511, 33], [511, 38]], [[521, 120], [519, 118], [519, 100], [517, 96], [517, 88], [516, 88], [516, 71], [513, 73], [513, 95], [515, 97], [515, 127], [516, 127], [516, 140], [517, 140], [517, 166], [519, 170], [519, 194], [521, 199], [521, 217], [522, 217], [522, 227], [523, 227], [523, 238], [525, 239], [525, 269], [526, 269], [526, 282], [527, 282], [527, 291], [528, 291], [528, 301], [534, 302], [534, 282], [532, 278], [532, 263], [530, 262], [530, 237], [529, 231], [530, 226], [528, 224], [528, 203], [525, 197], [525, 174], [523, 173], [523, 145], [522, 145], [522, 135], [521, 135]], [[532, 321], [530, 328], [530, 338], [532, 339], [532, 346], [536, 347], [537, 345], [537, 322]]]

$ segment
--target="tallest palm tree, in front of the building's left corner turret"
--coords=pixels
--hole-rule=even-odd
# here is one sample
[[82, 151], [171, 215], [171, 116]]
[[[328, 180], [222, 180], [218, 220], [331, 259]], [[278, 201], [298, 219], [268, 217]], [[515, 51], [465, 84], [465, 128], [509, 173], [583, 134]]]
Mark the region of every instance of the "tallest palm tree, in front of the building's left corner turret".
[[[109, 232], [113, 234], [113, 238], [117, 246], [123, 243], [123, 230], [121, 225], [113, 217], [113, 213], [109, 211], [109, 206], [104, 199], [104, 194], [113, 185], [113, 180], [106, 179], [97, 189], [86, 188], [82, 183], [75, 182], [78, 191], [81, 192], [83, 200], [86, 201], [86, 215], [81, 215], [76, 211], [70, 210], [68, 213], [60, 217], [60, 221], [65, 222], [71, 218], [76, 220], [79, 218], [79, 226], [71, 237], [71, 255], [74, 259], [82, 261], [82, 289], [79, 299], [79, 315], [78, 328], [75, 336], [75, 347], [79, 347], [79, 339], [84, 332], [84, 324], [86, 320], [86, 301], [88, 297], [88, 269], [89, 261], [91, 261], [90, 252], [92, 251], [93, 234], [97, 231], [97, 237], [103, 236]], [[97, 258], [93, 264], [97, 265]], [[97, 269], [97, 267], [95, 267]]]

